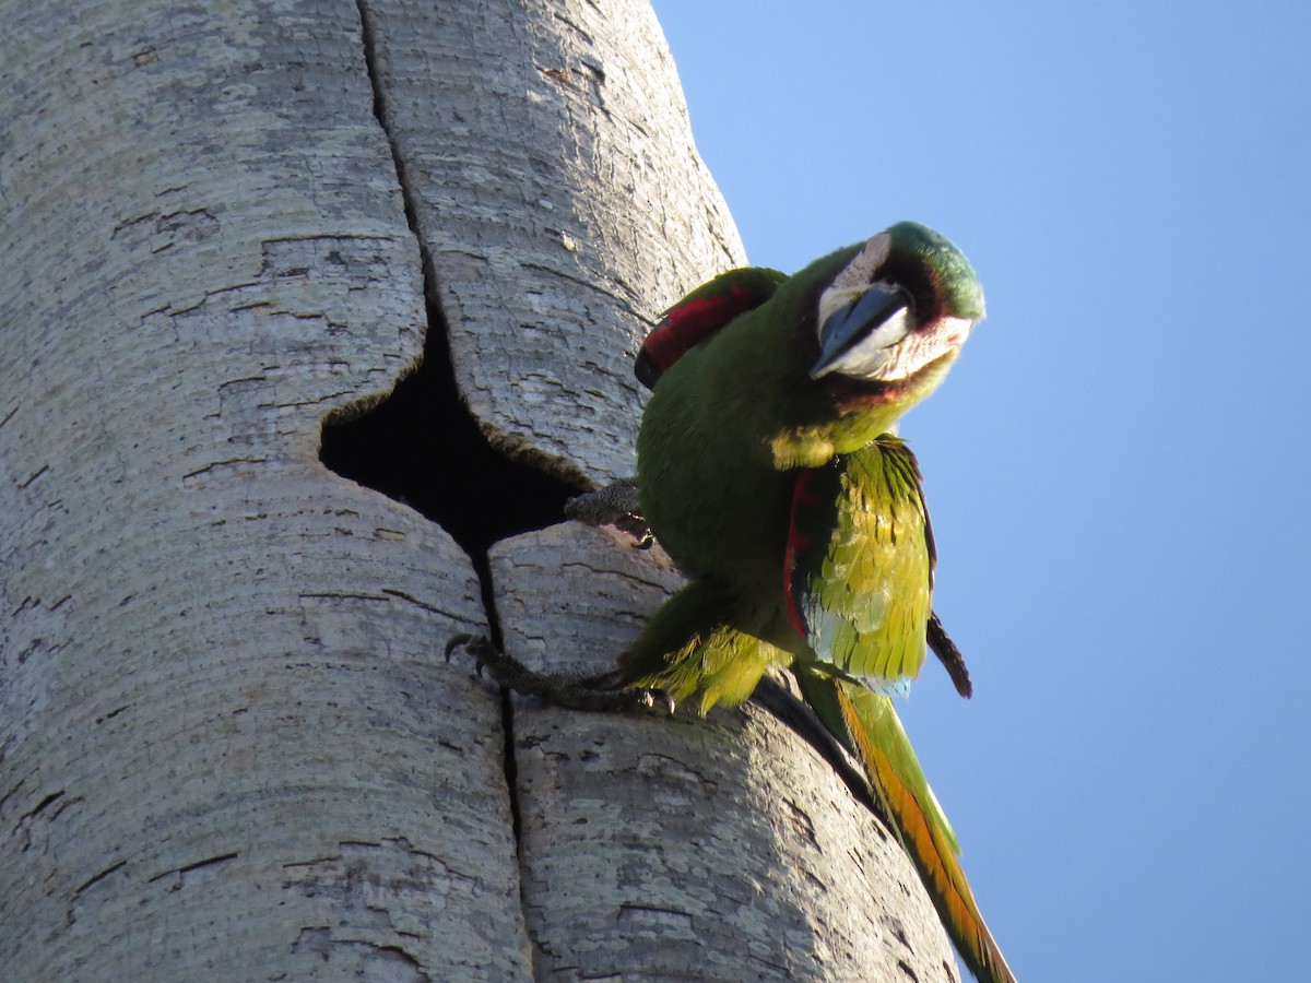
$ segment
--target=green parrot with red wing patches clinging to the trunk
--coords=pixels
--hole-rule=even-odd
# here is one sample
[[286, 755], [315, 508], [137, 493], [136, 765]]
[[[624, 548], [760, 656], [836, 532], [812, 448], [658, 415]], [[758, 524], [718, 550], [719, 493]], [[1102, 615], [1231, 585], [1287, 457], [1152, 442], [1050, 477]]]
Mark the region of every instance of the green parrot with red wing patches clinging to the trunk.
[[[690, 583], [593, 683], [738, 704], [785, 670], [857, 758], [965, 965], [1013, 980], [957, 861], [890, 696], [932, 647], [936, 562], [898, 418], [943, 381], [983, 292], [936, 232], [901, 223], [792, 277], [742, 269], [665, 315], [637, 357], [653, 388], [637, 438], [640, 512]], [[558, 699], [505, 657], [514, 688]], [[566, 700], [568, 701], [568, 700]]]

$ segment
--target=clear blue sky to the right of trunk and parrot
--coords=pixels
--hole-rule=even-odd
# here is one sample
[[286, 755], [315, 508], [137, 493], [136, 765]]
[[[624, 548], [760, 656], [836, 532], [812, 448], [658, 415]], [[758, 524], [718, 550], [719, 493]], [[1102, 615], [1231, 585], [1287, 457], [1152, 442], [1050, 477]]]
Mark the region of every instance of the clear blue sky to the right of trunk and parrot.
[[975, 696], [903, 717], [1017, 975], [1304, 971], [1306, 4], [654, 5], [753, 262], [982, 278], [902, 426]]

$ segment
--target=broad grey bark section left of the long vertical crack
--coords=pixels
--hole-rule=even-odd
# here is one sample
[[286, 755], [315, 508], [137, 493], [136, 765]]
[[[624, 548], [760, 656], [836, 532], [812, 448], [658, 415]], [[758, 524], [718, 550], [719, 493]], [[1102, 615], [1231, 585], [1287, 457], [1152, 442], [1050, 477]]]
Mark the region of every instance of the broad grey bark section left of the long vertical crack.
[[0, 20], [5, 978], [523, 975], [472, 566], [317, 460], [425, 325], [355, 5]]

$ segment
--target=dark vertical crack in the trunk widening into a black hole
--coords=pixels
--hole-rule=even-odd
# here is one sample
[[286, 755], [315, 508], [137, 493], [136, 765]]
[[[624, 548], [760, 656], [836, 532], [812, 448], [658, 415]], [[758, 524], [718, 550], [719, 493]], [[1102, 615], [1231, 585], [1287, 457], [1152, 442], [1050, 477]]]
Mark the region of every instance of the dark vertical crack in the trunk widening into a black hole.
[[[502, 633], [488, 549], [507, 536], [561, 522], [565, 501], [579, 489], [492, 447], [460, 397], [431, 253], [420, 232], [413, 187], [389, 122], [374, 16], [364, 0], [357, 0], [357, 8], [374, 90], [374, 114], [391, 147], [405, 218], [418, 242], [427, 336], [422, 360], [399, 380], [389, 396], [375, 405], [357, 404], [353, 412], [324, 422], [320, 457], [342, 477], [422, 512], [455, 539], [472, 560], [492, 642], [499, 647]], [[509, 693], [503, 695], [502, 720], [505, 773], [518, 843], [520, 810]]]

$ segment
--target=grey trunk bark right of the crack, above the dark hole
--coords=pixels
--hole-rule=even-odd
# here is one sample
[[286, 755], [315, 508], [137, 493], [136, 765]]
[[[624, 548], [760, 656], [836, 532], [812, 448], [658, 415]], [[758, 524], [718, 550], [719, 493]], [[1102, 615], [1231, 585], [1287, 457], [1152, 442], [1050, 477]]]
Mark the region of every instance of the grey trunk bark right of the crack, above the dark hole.
[[367, 9], [461, 395], [510, 453], [578, 484], [632, 474], [653, 315], [745, 262], [654, 14]]

